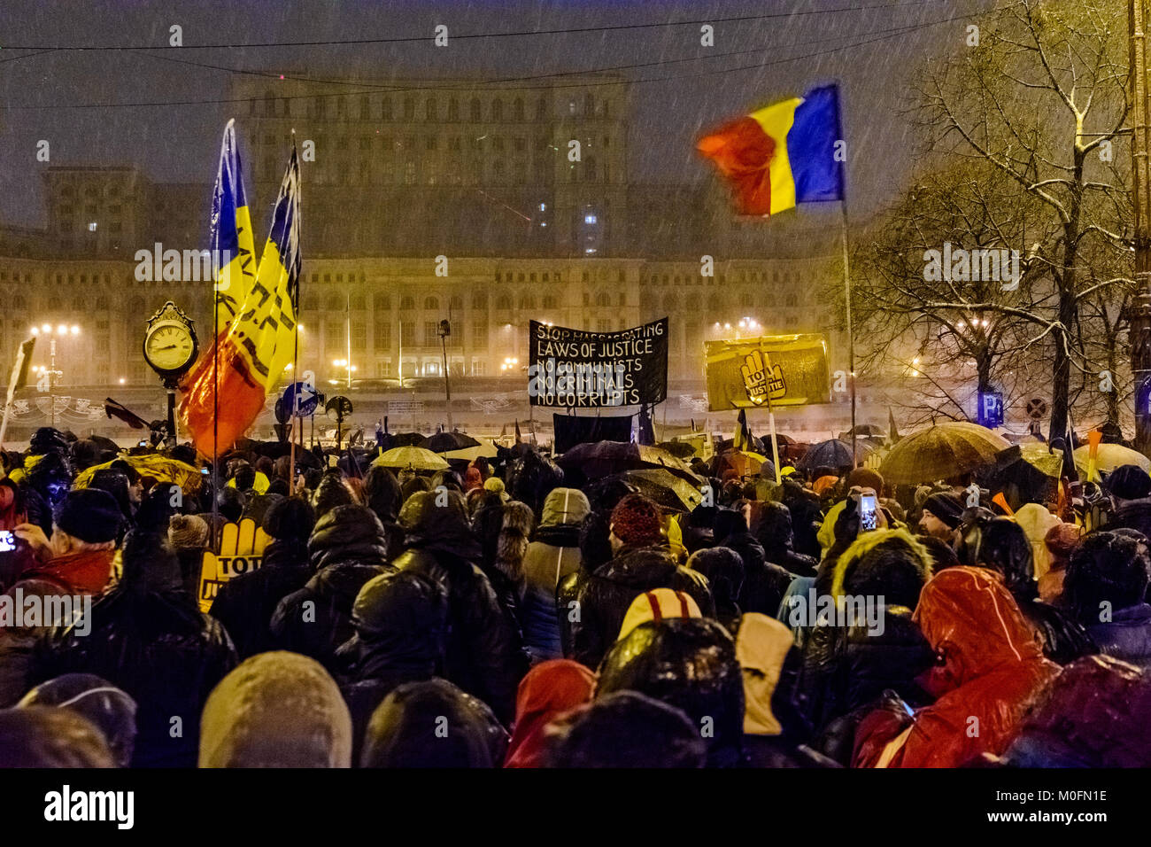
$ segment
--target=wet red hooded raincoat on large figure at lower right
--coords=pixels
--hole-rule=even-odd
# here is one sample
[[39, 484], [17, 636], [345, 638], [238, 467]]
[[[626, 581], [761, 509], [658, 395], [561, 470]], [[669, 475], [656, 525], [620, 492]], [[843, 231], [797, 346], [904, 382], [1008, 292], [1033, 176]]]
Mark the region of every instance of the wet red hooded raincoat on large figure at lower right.
[[1034, 695], [1059, 673], [1003, 577], [947, 568], [923, 588], [914, 620], [943, 657], [920, 680], [938, 699], [914, 720], [890, 709], [864, 718], [853, 766], [958, 767], [1001, 754]]

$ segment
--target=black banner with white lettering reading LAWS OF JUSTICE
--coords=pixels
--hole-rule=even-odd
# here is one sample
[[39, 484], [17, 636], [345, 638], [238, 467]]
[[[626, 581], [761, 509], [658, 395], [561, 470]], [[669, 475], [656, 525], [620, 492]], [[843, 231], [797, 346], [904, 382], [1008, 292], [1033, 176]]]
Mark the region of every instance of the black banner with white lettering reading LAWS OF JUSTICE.
[[668, 396], [668, 318], [619, 332], [531, 322], [532, 406], [595, 409], [661, 403]]

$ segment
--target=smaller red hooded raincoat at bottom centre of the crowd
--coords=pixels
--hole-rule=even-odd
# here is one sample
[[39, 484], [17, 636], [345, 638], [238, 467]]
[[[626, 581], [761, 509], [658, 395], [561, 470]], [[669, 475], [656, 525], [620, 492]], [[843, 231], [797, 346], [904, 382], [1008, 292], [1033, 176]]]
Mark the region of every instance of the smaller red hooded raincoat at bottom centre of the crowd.
[[516, 724], [504, 767], [542, 767], [544, 727], [589, 703], [593, 691], [595, 674], [571, 659], [541, 661], [528, 671], [516, 695]]

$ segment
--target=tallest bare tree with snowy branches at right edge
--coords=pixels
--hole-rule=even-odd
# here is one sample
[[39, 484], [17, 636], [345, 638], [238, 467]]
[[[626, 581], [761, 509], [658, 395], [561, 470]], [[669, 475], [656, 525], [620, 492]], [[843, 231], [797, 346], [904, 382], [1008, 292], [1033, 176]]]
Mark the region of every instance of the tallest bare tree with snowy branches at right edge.
[[1051, 297], [1015, 309], [1052, 346], [1055, 437], [1066, 432], [1073, 363], [1083, 357], [1081, 301], [1130, 275], [1092, 282], [1081, 264], [1129, 244], [1113, 152], [1127, 114], [1126, 17], [1100, 0], [1004, 0], [977, 28], [977, 45], [925, 65], [916, 116], [931, 154], [990, 165], [1046, 212], [1029, 264], [1043, 266]]

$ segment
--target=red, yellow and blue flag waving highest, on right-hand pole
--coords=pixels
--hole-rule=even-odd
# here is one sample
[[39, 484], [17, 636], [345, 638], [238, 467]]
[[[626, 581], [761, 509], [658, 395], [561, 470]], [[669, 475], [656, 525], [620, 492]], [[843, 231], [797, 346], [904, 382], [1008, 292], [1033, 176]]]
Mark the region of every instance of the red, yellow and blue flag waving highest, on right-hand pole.
[[732, 121], [695, 148], [731, 182], [740, 214], [768, 215], [844, 198], [841, 139], [839, 90], [828, 85]]

